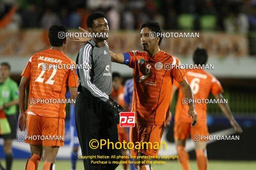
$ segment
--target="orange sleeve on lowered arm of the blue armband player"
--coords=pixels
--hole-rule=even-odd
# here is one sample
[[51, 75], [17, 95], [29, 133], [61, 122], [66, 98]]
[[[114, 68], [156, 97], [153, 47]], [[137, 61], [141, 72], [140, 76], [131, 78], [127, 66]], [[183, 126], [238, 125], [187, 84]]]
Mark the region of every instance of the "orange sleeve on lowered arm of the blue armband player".
[[[173, 62], [172, 62], [172, 70], [171, 70], [171, 77], [174, 77], [174, 79], [177, 82], [181, 82], [184, 81], [185, 79], [185, 70], [179, 68], [178, 65], [181, 64], [180, 60], [176, 57], [176, 56], [172, 56], [173, 57]], [[175, 66], [177, 65], [177, 66]]]

